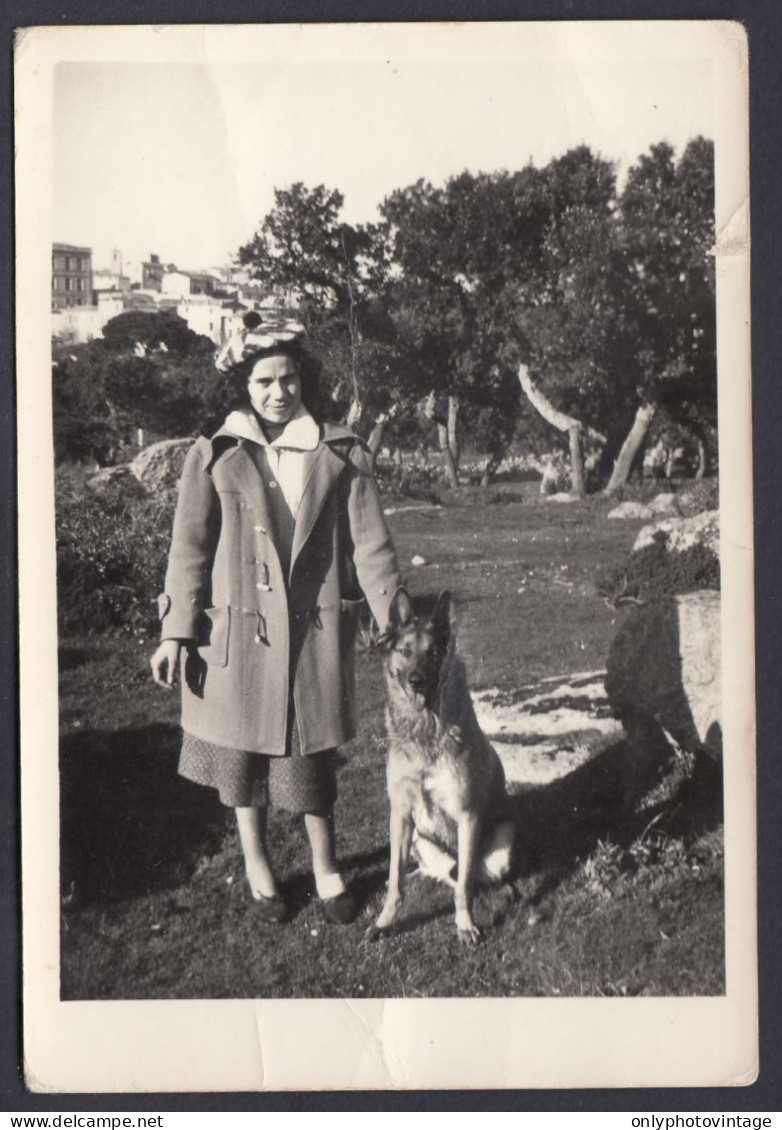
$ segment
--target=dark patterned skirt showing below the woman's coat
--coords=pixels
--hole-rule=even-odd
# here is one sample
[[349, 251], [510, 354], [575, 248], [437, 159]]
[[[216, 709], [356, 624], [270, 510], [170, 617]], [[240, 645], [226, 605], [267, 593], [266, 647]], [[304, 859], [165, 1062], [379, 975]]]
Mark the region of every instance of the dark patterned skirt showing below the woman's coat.
[[229, 808], [284, 808], [288, 812], [329, 816], [337, 800], [336, 749], [302, 754], [298, 728], [292, 725], [288, 753], [270, 757], [228, 749], [184, 731], [180, 776], [217, 789]]

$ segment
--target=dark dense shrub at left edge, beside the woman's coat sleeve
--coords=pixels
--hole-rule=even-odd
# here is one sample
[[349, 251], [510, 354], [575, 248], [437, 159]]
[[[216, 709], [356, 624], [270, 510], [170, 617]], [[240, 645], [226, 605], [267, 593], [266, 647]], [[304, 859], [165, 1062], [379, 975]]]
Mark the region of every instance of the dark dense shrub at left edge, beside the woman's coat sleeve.
[[93, 485], [58, 472], [58, 626], [62, 636], [153, 634], [165, 575], [174, 493], [148, 495], [133, 480]]

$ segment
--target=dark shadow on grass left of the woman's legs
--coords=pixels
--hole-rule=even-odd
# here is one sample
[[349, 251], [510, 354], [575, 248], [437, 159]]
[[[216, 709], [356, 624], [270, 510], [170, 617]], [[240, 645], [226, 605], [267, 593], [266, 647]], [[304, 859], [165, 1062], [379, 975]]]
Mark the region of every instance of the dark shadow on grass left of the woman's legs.
[[60, 742], [63, 901], [107, 905], [181, 885], [217, 850], [225, 809], [176, 774], [171, 724], [67, 734]]

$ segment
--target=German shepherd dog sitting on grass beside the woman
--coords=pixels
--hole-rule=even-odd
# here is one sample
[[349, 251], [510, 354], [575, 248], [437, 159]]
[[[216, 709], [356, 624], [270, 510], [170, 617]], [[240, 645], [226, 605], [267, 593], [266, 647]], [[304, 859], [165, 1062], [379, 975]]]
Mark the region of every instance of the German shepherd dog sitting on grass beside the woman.
[[400, 589], [381, 640], [386, 652], [391, 869], [385, 903], [367, 936], [376, 938], [393, 925], [412, 846], [427, 870], [454, 886], [459, 938], [476, 944], [475, 881], [479, 872], [493, 883], [506, 877], [515, 822], [502, 763], [478, 725], [464, 664], [455, 652], [450, 593], [438, 597], [429, 619], [419, 619]]

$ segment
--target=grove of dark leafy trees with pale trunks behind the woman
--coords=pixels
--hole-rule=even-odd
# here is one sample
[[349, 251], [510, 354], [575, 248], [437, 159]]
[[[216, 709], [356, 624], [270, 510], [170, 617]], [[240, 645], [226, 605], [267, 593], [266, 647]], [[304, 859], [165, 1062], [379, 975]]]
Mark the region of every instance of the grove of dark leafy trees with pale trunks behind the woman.
[[370, 406], [373, 442], [423, 402], [455, 485], [460, 432], [486, 444], [488, 481], [519, 421], [536, 442], [554, 426], [575, 493], [585, 444], [614, 490], [655, 420], [687, 429], [705, 466], [712, 164], [702, 138], [678, 163], [654, 146], [617, 197], [611, 163], [579, 146], [545, 168], [418, 181], [366, 227], [342, 223], [339, 192], [296, 184], [240, 259], [302, 301], [334, 410], [355, 421]]

